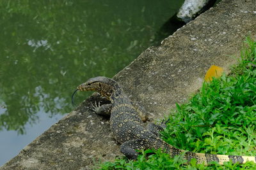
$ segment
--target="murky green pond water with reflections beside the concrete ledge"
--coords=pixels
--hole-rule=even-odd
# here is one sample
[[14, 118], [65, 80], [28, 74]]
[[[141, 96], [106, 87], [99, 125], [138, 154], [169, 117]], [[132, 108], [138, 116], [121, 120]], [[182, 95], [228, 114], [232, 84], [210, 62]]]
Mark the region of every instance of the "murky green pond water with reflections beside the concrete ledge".
[[[12, 154], [19, 153], [72, 111], [70, 97], [77, 85], [93, 76], [112, 77], [172, 34], [179, 25], [168, 20], [182, 3], [1, 1], [0, 152], [10, 147]], [[76, 103], [84, 98], [84, 93], [77, 95]], [[11, 138], [15, 142], [3, 140]], [[0, 165], [12, 154], [0, 154]]]

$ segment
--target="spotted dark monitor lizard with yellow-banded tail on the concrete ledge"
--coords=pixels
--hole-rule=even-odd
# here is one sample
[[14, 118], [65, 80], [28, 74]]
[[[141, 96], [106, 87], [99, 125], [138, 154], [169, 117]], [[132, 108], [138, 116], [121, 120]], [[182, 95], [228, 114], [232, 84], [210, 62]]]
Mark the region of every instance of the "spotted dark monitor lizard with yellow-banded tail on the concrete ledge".
[[[121, 144], [121, 152], [129, 159], [136, 159], [138, 157], [136, 150], [147, 150], [148, 148], [162, 148], [164, 152], [169, 153], [172, 157], [185, 152], [159, 138], [159, 130], [163, 129], [163, 126], [151, 123], [147, 128], [143, 127], [138, 111], [115, 80], [102, 76], [90, 78], [85, 83], [79, 85], [77, 90], [97, 91], [101, 96], [107, 97], [111, 101], [110, 106], [108, 104], [108, 107], [111, 107], [111, 132], [113, 133], [113, 138]], [[105, 107], [104, 110], [106, 110], [106, 106], [102, 105], [100, 107]], [[256, 163], [256, 157], [247, 156], [186, 152], [184, 157], [188, 162], [195, 158], [197, 163], [204, 162], [205, 165], [211, 161], [223, 164], [223, 162], [228, 162], [230, 159], [234, 163], [244, 164], [248, 160]]]

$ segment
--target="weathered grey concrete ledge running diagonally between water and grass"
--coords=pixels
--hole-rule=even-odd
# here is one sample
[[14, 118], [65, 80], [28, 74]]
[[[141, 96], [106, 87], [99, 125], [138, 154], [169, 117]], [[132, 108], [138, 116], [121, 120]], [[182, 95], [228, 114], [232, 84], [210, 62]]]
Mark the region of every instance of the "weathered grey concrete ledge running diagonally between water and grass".
[[[183, 103], [200, 88], [212, 64], [227, 71], [236, 62], [245, 37], [255, 38], [255, 4], [256, 0], [223, 0], [161, 46], [145, 50], [115, 80], [145, 108], [150, 120], [163, 118], [175, 103]], [[111, 138], [108, 118], [90, 110], [93, 97], [0, 169], [92, 169], [99, 160], [122, 155]]]

